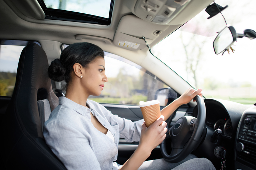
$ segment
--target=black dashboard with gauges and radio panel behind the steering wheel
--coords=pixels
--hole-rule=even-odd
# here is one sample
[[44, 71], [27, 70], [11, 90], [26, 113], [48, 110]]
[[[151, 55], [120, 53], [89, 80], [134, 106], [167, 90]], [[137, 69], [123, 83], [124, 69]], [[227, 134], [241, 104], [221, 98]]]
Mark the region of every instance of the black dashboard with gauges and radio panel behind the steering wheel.
[[[194, 154], [220, 164], [222, 156], [217, 150], [222, 149], [226, 151], [228, 169], [256, 169], [256, 104], [242, 105], [220, 99], [205, 99], [204, 102], [207, 132]], [[254, 107], [253, 111], [251, 107]], [[194, 107], [190, 115], [197, 117], [197, 111]], [[213, 132], [217, 128], [222, 134], [213, 141]]]

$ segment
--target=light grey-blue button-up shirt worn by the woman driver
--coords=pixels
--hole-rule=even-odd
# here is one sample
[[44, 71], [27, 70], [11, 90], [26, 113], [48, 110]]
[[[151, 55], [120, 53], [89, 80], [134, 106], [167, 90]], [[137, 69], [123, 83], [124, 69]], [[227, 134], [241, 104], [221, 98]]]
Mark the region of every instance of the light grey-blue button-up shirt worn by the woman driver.
[[[59, 97], [59, 106], [43, 127], [46, 143], [67, 169], [119, 169], [114, 162], [119, 138], [139, 141], [144, 120], [132, 122], [113, 115], [97, 102], [86, 103], [91, 109]], [[93, 126], [90, 112], [112, 133], [115, 142]]]

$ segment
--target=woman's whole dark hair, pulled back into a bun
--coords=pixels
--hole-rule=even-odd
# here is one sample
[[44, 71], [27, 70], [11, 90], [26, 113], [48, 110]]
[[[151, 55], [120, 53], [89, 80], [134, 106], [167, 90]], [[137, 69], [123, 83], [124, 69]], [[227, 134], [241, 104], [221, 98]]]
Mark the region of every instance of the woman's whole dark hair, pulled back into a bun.
[[75, 63], [86, 68], [97, 57], [104, 58], [104, 51], [99, 46], [91, 43], [71, 44], [62, 51], [59, 59], [52, 61], [48, 68], [48, 75], [52, 80], [64, 80], [68, 85]]

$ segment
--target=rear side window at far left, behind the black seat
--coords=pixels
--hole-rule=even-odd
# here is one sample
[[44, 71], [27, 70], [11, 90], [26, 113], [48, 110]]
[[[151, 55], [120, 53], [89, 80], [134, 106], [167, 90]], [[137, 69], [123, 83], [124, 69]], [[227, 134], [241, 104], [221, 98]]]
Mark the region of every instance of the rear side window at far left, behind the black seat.
[[32, 42], [0, 40], [0, 96], [12, 96], [19, 57], [23, 48], [29, 43]]

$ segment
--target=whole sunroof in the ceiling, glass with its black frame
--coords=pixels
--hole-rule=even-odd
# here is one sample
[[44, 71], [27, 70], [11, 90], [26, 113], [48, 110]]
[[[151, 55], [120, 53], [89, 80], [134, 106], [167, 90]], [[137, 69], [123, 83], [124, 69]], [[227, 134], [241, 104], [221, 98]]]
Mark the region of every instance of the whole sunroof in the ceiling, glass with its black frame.
[[45, 19], [109, 25], [114, 0], [38, 0]]

